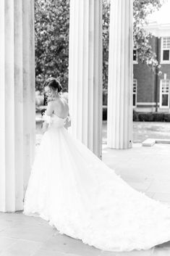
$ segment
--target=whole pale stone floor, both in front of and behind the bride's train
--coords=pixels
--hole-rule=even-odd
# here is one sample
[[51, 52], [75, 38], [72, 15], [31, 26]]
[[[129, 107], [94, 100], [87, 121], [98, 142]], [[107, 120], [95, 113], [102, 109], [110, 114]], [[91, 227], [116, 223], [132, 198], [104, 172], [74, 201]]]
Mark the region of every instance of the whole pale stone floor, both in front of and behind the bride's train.
[[[138, 191], [170, 204], [170, 145], [107, 149], [103, 161]], [[169, 256], [170, 242], [149, 250], [103, 252], [82, 241], [60, 235], [41, 218], [22, 212], [0, 213], [0, 256]]]

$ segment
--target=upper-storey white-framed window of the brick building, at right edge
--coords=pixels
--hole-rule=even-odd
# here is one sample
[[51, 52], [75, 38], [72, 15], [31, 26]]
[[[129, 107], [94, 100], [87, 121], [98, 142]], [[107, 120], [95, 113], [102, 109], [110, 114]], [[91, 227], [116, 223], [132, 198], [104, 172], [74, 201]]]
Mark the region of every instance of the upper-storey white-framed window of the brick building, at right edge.
[[161, 39], [161, 62], [170, 63], [170, 36]]

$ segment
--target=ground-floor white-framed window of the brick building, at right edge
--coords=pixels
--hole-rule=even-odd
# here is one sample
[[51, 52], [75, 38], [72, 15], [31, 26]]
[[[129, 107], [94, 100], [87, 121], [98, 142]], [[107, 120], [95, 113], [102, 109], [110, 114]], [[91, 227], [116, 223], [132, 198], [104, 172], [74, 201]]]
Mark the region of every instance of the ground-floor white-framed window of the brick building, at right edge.
[[161, 80], [160, 86], [160, 107], [169, 108], [170, 80]]

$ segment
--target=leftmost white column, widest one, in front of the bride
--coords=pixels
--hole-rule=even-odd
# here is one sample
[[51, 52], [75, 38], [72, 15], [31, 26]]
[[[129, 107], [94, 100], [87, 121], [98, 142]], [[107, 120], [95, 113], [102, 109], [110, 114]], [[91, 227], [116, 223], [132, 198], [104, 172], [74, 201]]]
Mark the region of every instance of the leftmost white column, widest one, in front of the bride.
[[[27, 19], [28, 14], [29, 19]], [[1, 212], [22, 210], [24, 177], [29, 175], [33, 161], [30, 157], [33, 155], [35, 142], [33, 22], [33, 0], [1, 0]], [[25, 31], [25, 24], [31, 36]], [[27, 52], [27, 59], [25, 52]], [[31, 152], [29, 161], [25, 161], [25, 152]]]

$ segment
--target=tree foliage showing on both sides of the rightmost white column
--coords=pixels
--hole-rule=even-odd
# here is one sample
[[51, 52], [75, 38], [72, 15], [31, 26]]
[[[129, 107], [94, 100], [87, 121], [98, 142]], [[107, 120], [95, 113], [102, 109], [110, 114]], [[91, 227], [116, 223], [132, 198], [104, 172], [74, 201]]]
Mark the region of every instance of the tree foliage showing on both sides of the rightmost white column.
[[[133, 1], [133, 39], [137, 49], [137, 57], [146, 63], [152, 70], [160, 67], [149, 44], [150, 33], [147, 33], [143, 25], [147, 23], [146, 17], [161, 7], [161, 0], [134, 0]], [[109, 9], [110, 1], [103, 0], [103, 87], [108, 84], [108, 59], [109, 59]]]

